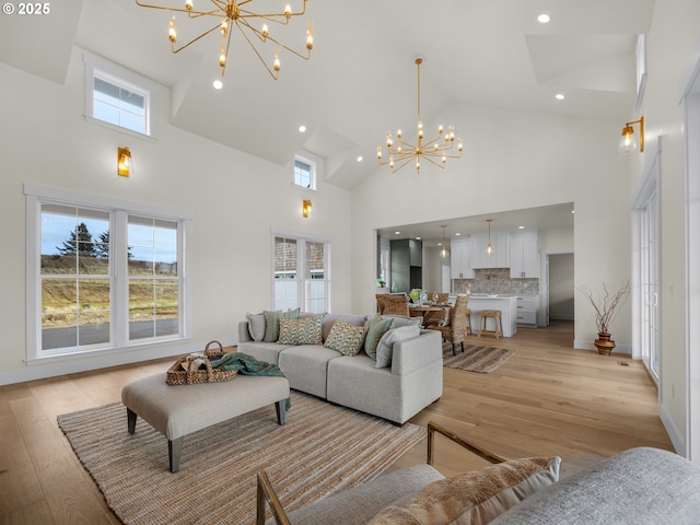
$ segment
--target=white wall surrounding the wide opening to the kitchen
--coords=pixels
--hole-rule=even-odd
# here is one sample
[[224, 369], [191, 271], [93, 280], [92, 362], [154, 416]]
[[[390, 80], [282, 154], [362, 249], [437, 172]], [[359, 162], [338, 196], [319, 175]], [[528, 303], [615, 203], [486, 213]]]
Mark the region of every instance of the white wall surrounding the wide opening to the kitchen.
[[[377, 168], [353, 191], [355, 310], [374, 298], [375, 229], [562, 202], [574, 203], [573, 235], [555, 232], [540, 247], [574, 248], [579, 287], [629, 279], [629, 160], [617, 153], [619, 122], [472, 105], [450, 107], [442, 119], [464, 138], [463, 159], [420, 175]], [[417, 195], [424, 206], [406, 206]], [[585, 298], [574, 299], [575, 339], [594, 348], [594, 312]], [[630, 323], [627, 305], [612, 326], [618, 345], [631, 345]]]

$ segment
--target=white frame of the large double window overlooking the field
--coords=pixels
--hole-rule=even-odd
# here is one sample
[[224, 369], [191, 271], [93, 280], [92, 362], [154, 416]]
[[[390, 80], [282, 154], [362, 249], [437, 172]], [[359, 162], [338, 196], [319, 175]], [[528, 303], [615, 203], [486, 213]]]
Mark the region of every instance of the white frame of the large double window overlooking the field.
[[[26, 363], [44, 363], [52, 360], [75, 359], [102, 354], [148, 349], [172, 341], [191, 338], [191, 292], [188, 278], [189, 236], [191, 214], [164, 208], [140, 205], [84, 194], [24, 185], [26, 198]], [[60, 205], [109, 212], [110, 254], [127, 252], [127, 218], [129, 214], [176, 222], [178, 224], [178, 332], [174, 335], [129, 339], [128, 259], [110, 257], [110, 327], [109, 342], [90, 346], [42, 349], [42, 208]], [[112, 228], [115, 228], [114, 232]]]

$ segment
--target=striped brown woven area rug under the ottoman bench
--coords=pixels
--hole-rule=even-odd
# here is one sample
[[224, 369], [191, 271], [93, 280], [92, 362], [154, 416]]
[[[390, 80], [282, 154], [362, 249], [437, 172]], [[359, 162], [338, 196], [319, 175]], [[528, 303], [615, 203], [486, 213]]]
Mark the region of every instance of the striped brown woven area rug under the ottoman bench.
[[[212, 399], [201, 409], [219, 402], [234, 401]], [[293, 392], [287, 424], [277, 424], [270, 405], [185, 436], [180, 470], [172, 474], [166, 438], [140, 418], [129, 434], [120, 402], [58, 423], [115, 514], [148, 525], [255, 523], [259, 470], [293, 510], [375, 478], [425, 436], [421, 427]]]

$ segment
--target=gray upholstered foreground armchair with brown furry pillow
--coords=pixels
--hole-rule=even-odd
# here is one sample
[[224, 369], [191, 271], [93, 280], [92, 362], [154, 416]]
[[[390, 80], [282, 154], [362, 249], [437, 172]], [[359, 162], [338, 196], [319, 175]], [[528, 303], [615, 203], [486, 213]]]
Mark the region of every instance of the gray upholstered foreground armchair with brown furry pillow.
[[[488, 468], [451, 481], [428, 464], [406, 467], [288, 513], [278, 503], [278, 516], [291, 525], [700, 523], [700, 467], [672, 452], [630, 448], [559, 481], [558, 465], [555, 476], [542, 469], [522, 481], [517, 476], [489, 474]], [[516, 479], [510, 481], [511, 477]], [[459, 478], [475, 483], [457, 494], [454, 482]], [[259, 487], [261, 479], [258, 476]], [[506, 479], [511, 485], [500, 487]], [[266, 482], [267, 491], [272, 491]], [[264, 502], [258, 491], [257, 523], [282, 523], [279, 517], [265, 521]]]

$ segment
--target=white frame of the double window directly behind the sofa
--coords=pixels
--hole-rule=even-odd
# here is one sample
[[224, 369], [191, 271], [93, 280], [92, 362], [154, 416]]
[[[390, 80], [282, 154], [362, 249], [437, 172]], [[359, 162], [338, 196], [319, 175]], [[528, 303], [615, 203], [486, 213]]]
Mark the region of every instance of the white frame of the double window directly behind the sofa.
[[306, 243], [322, 243], [324, 245], [324, 275], [325, 275], [325, 279], [324, 281], [326, 282], [326, 295], [324, 298], [324, 307], [323, 307], [323, 312], [318, 312], [318, 313], [325, 313], [325, 312], [330, 312], [330, 304], [331, 304], [331, 289], [332, 289], [332, 279], [331, 279], [331, 275], [330, 275], [330, 261], [331, 261], [331, 248], [332, 248], [332, 243], [330, 242], [329, 237], [324, 237], [324, 236], [313, 236], [313, 235], [308, 235], [306, 233], [300, 233], [300, 232], [292, 232], [289, 230], [278, 230], [278, 229], [272, 229], [271, 232], [271, 267], [272, 267], [272, 273], [271, 273], [271, 279], [272, 279], [272, 307], [277, 308], [277, 299], [275, 296], [275, 284], [276, 284], [276, 278], [275, 278], [275, 240], [276, 237], [283, 237], [283, 238], [289, 238], [289, 240], [293, 240], [296, 241], [296, 279], [295, 281], [298, 282], [298, 306], [302, 310], [302, 312], [310, 312], [310, 301], [311, 301], [311, 296], [310, 296], [310, 283], [307, 281], [310, 281], [308, 279], [306, 279]]

